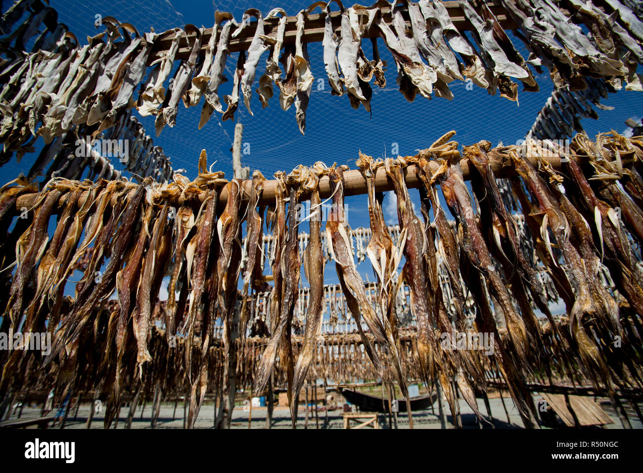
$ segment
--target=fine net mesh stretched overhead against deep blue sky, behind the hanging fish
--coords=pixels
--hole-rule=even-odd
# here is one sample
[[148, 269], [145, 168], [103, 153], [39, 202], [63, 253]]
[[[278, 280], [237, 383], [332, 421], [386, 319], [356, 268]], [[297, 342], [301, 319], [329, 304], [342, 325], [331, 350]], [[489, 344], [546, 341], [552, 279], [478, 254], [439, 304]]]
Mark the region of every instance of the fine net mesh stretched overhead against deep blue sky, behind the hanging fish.
[[[296, 15], [307, 8], [311, 0], [293, 0], [285, 5], [289, 15]], [[258, 8], [264, 15], [275, 6], [282, 6], [274, 0], [153, 0], [145, 3], [132, 3], [125, 0], [97, 0], [80, 2], [51, 0], [51, 6], [59, 12], [59, 21], [69, 26], [84, 42], [87, 35], [95, 35], [95, 15], [112, 15], [119, 21], [134, 24], [142, 33], [152, 27], [156, 32], [168, 30], [186, 23], [210, 28], [214, 21], [215, 9], [229, 11], [240, 20], [247, 8]], [[179, 12], [180, 10], [180, 12]], [[512, 37], [516, 48], [523, 57], [527, 51], [518, 39]], [[370, 44], [366, 42], [365, 51], [370, 55]], [[352, 109], [349, 98], [331, 96], [331, 89], [323, 67], [321, 42], [308, 45], [311, 70], [315, 79], [323, 79], [323, 89], [318, 90], [315, 80], [307, 111], [305, 136], [298, 130], [294, 118], [294, 106], [282, 111], [278, 104], [278, 90], [271, 98], [269, 107], [262, 109], [257, 93], [251, 99], [251, 116], [240, 103], [235, 114], [235, 122], [244, 125], [242, 162], [251, 169], [259, 169], [267, 177], [275, 171], [290, 171], [298, 164], [311, 165], [322, 160], [345, 163], [354, 167], [358, 151], [372, 156], [384, 157], [395, 154], [415, 154], [416, 149], [427, 147], [433, 140], [446, 131], [458, 131], [455, 139], [462, 144], [479, 140], [489, 140], [493, 145], [498, 142], [513, 144], [524, 138], [532, 126], [538, 111], [550, 95], [553, 84], [547, 73], [535, 75], [540, 88], [536, 93], [520, 93], [519, 104], [501, 98], [497, 93], [491, 96], [485, 89], [474, 87], [467, 90], [464, 82], [449, 84], [455, 96], [450, 102], [444, 98], [418, 96], [407, 102], [399, 93], [395, 78], [395, 63], [379, 41], [379, 51], [388, 64], [386, 88], [374, 86], [371, 100], [372, 115], [363, 107]], [[268, 53], [264, 53], [257, 68], [258, 76], [263, 73]], [[226, 76], [228, 82], [222, 84], [220, 95], [231, 93], [232, 76], [237, 63], [238, 53], [228, 58]], [[257, 87], [257, 83], [253, 88]], [[624, 121], [642, 115], [640, 108], [642, 95], [634, 91], [620, 91], [603, 102], [615, 107], [612, 111], [601, 111], [599, 120], [583, 120], [583, 127], [592, 136], [599, 131], [626, 130]], [[242, 102], [242, 100], [240, 101]], [[165, 127], [154, 143], [163, 147], [165, 154], [172, 159], [174, 169], [186, 169], [186, 176], [194, 178], [197, 174], [197, 159], [201, 149], [206, 149], [208, 162], [217, 160], [215, 167], [231, 177], [231, 145], [234, 134], [233, 122], [221, 122], [221, 115], [214, 113], [210, 121], [198, 130], [199, 116], [203, 100], [196, 107], [181, 109], [174, 128]], [[138, 117], [138, 113], [134, 112]], [[140, 118], [147, 133], [154, 134], [154, 118]]]

